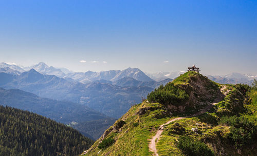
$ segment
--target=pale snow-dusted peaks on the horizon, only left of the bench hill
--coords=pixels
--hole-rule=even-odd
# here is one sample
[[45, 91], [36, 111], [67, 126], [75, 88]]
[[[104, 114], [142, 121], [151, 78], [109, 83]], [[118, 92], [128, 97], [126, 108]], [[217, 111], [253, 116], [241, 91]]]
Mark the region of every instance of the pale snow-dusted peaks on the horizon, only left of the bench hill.
[[15, 70], [18, 71], [18, 74], [19, 74], [21, 72], [34, 69], [35, 71], [38, 71], [39, 73], [42, 73], [42, 74], [56, 75], [66, 80], [72, 80], [72, 81], [81, 82], [84, 84], [89, 82], [99, 81], [99, 80], [107, 80], [107, 81], [114, 82], [124, 77], [132, 77], [137, 81], [143, 81], [143, 82], [153, 81], [149, 76], [145, 75], [144, 72], [142, 72], [138, 68], [127, 68], [125, 70], [109, 70], [109, 71], [101, 71], [101, 72], [93, 72], [93, 71], [72, 72], [66, 68], [54, 68], [52, 66], [49, 67], [44, 62], [40, 62], [39, 64], [29, 66], [29, 67], [22, 67], [17, 65], [9, 65], [7, 63], [0, 63], [0, 69], [1, 68], [9, 68], [9, 69], [5, 69], [9, 71], [5, 71], [4, 69], [2, 69], [2, 71], [6, 73], [11, 73], [11, 74], [16, 74]]

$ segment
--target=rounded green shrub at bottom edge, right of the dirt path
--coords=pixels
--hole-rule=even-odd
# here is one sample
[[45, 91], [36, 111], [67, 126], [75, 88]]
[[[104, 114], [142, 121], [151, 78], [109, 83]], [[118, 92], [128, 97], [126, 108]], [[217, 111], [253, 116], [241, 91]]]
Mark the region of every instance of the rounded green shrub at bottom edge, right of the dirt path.
[[194, 141], [188, 136], [179, 136], [178, 141], [175, 141], [175, 145], [185, 155], [198, 156], [214, 156], [214, 152], [203, 142]]

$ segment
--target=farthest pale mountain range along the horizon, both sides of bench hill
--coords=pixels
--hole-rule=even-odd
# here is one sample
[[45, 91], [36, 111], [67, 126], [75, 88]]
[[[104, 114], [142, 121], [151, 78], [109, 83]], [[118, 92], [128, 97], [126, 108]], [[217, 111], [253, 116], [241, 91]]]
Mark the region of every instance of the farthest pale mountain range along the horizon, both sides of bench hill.
[[[0, 63], [0, 72], [5, 72], [9, 74], [20, 74], [24, 71], [29, 71], [34, 69], [42, 74], [47, 75], [56, 75], [58, 77], [64, 78], [70, 82], [81, 82], [83, 84], [90, 82], [100, 82], [100, 83], [110, 83], [118, 85], [121, 79], [127, 79], [127, 77], [132, 77], [136, 81], [141, 82], [160, 82], [166, 79], [175, 79], [180, 74], [185, 73], [186, 71], [177, 71], [177, 72], [156, 72], [156, 73], [144, 73], [138, 68], [127, 68], [124, 70], [109, 70], [101, 72], [72, 72], [66, 68], [54, 68], [52, 66], [46, 65], [44, 62], [39, 64], [22, 67], [17, 65], [9, 65], [7, 63]], [[257, 79], [257, 75], [247, 75], [241, 73], [230, 73], [227, 75], [207, 75], [210, 80], [213, 80], [217, 83], [223, 84], [236, 84], [244, 83], [251, 84], [253, 79]], [[111, 83], [113, 82], [113, 83]], [[134, 82], [132, 82], [134, 83]], [[122, 84], [122, 86], [124, 86]], [[126, 86], [137, 86], [133, 84], [126, 84]]]

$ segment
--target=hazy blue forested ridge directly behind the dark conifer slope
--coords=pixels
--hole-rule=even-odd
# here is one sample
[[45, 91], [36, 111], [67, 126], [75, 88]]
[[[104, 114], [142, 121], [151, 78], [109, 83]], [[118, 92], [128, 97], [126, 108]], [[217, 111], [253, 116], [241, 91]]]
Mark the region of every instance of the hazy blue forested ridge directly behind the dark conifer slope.
[[6, 90], [0, 88], [0, 104], [32, 111], [64, 124], [72, 121], [91, 121], [107, 118], [106, 115], [89, 107], [67, 101], [42, 98], [20, 89]]

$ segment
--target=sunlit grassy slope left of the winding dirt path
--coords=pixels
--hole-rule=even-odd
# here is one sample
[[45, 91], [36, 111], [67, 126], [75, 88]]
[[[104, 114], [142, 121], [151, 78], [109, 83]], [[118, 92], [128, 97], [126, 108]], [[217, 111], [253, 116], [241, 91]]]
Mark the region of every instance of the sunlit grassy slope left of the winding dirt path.
[[[155, 110], [146, 112], [142, 116], [135, 115], [140, 108], [153, 107]], [[114, 135], [114, 139], [117, 140], [114, 145], [102, 150], [99, 155], [150, 155], [148, 148], [148, 139], [155, 134], [155, 130], [164, 122], [167, 122], [170, 118], [155, 117], [164, 111], [163, 106], [158, 103], [150, 104], [143, 102], [141, 104], [133, 106], [126, 114], [122, 116], [120, 120], [125, 121], [125, 125], [121, 128], [119, 133], [111, 132], [108, 134]], [[138, 122], [137, 127], [133, 126], [133, 123]], [[106, 138], [108, 138], [108, 136]], [[99, 140], [92, 146], [95, 148], [86, 155], [97, 155], [100, 151], [97, 147]]]

